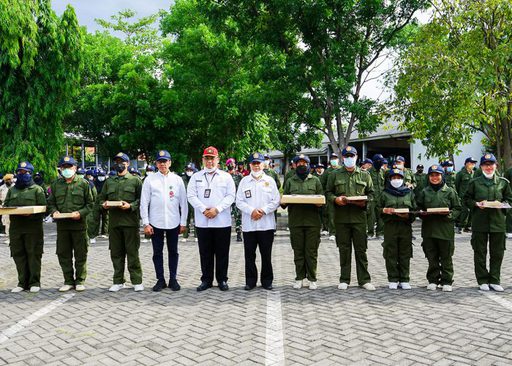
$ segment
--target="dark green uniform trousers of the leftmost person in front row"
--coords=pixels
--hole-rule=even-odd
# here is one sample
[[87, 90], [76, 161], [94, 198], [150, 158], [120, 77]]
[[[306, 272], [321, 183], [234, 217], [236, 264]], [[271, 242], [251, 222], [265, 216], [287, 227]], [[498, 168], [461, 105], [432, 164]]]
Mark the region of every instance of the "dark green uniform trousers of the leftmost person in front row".
[[28, 290], [41, 287], [41, 258], [43, 256], [43, 231], [37, 233], [9, 234], [11, 257], [18, 272], [18, 286]]

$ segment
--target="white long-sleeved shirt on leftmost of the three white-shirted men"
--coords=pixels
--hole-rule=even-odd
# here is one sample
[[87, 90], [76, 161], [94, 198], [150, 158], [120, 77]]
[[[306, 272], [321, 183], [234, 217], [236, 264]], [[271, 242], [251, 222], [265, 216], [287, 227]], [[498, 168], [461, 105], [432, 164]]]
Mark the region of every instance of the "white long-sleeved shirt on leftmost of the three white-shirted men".
[[142, 185], [140, 216], [142, 224], [158, 229], [186, 226], [188, 215], [187, 191], [180, 176], [160, 172], [148, 175]]

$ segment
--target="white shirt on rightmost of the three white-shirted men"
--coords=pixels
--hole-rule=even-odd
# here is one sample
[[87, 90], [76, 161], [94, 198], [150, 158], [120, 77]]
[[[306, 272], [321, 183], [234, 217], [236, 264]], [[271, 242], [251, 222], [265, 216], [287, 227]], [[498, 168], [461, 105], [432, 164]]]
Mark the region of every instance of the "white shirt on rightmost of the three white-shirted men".
[[[260, 179], [251, 174], [243, 177], [236, 193], [236, 207], [242, 211], [242, 231], [265, 231], [276, 229], [274, 211], [279, 207], [281, 197], [274, 178], [263, 174]], [[255, 209], [262, 209], [265, 215], [253, 220]]]

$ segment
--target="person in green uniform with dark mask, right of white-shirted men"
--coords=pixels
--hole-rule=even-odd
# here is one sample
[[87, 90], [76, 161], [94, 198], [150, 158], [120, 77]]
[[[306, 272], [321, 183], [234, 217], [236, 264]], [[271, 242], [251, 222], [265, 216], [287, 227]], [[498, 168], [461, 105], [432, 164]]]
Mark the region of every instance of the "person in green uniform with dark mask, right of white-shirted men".
[[[300, 154], [296, 159], [295, 175], [285, 183], [283, 194], [323, 194], [320, 180], [309, 174], [309, 157]], [[287, 205], [282, 205], [286, 208]], [[316, 268], [318, 246], [320, 244], [320, 205], [290, 204], [288, 206], [288, 227], [295, 262], [295, 284], [293, 288], [303, 286], [303, 280], [309, 280], [309, 289], [318, 288]]]

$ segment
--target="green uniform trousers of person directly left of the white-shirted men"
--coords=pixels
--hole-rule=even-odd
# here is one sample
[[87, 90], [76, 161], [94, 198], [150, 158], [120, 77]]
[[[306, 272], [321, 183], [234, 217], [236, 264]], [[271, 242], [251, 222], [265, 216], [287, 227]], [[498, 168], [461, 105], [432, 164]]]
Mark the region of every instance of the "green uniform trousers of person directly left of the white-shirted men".
[[142, 267], [139, 259], [140, 236], [138, 227], [118, 226], [110, 228], [109, 249], [114, 266], [114, 284], [123, 284], [124, 268], [128, 262], [128, 272], [132, 285], [142, 283]]

